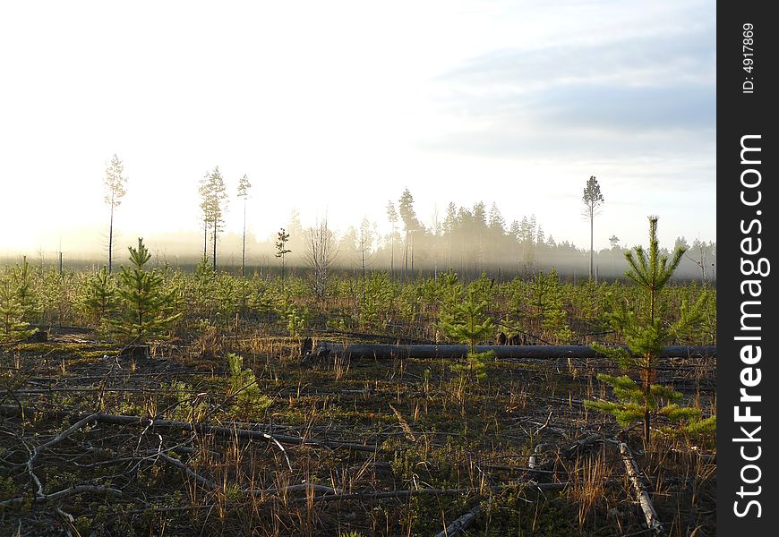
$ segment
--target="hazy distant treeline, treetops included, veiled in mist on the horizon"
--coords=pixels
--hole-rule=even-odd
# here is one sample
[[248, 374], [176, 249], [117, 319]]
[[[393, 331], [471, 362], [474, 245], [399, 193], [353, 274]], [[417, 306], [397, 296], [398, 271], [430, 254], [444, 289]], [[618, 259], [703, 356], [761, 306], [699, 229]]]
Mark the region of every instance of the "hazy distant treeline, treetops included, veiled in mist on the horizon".
[[[410, 196], [410, 195], [409, 195]], [[391, 209], [391, 210], [390, 210]], [[586, 278], [589, 267], [589, 251], [578, 248], [569, 241], [557, 241], [544, 234], [543, 227], [535, 216], [523, 217], [507, 226], [500, 210], [492, 204], [490, 210], [483, 202], [473, 208], [457, 207], [450, 203], [445, 214], [433, 218], [432, 226], [424, 226], [415, 216], [413, 199], [403, 199], [398, 212], [390, 203], [387, 219], [392, 225], [390, 233], [379, 234], [377, 223], [364, 218], [359, 226], [349, 226], [344, 233], [324, 229], [331, 242], [334, 258], [332, 268], [339, 271], [387, 271], [393, 278], [412, 279], [435, 275], [452, 268], [463, 279], [472, 279], [485, 272], [490, 277], [501, 279], [532, 275], [539, 271], [548, 272], [556, 268], [561, 277]], [[393, 214], [394, 213], [394, 214]], [[383, 218], [382, 218], [383, 219]], [[662, 224], [662, 223], [661, 223]], [[296, 210], [286, 226], [289, 239], [286, 249], [286, 265], [293, 271], [308, 267], [312, 251], [312, 233], [321, 232], [304, 228]], [[279, 226], [279, 229], [281, 226]], [[275, 234], [267, 240], [255, 235], [246, 237], [246, 274], [272, 274], [280, 270], [277, 258]], [[322, 240], [322, 236], [319, 237]], [[116, 240], [114, 252], [117, 264], [126, 260], [124, 243], [132, 244], [137, 237], [121, 237]], [[101, 266], [107, 262], [107, 252], [99, 250], [96, 239], [93, 251], [72, 252], [64, 248], [63, 265], [66, 269], [81, 269]], [[166, 263], [184, 270], [191, 270], [202, 260], [203, 234], [184, 232], [176, 234], [153, 234], [144, 237], [153, 256], [153, 261]], [[620, 244], [619, 237], [612, 235], [611, 247], [595, 251], [595, 272], [598, 279], [621, 278], [627, 269], [624, 252], [632, 245]], [[687, 252], [676, 271], [680, 279], [697, 279], [712, 282], [716, 279], [716, 243], [698, 241], [688, 243], [684, 237], [675, 244], [662, 245], [668, 253], [677, 245], [687, 247]], [[218, 269], [240, 273], [242, 257], [242, 236], [223, 234], [218, 238]], [[35, 263], [58, 266], [59, 256], [54, 252], [25, 252], [28, 260]], [[16, 256], [0, 258], [0, 263], [13, 264], [21, 260]], [[105, 259], [104, 259], [105, 258]]]

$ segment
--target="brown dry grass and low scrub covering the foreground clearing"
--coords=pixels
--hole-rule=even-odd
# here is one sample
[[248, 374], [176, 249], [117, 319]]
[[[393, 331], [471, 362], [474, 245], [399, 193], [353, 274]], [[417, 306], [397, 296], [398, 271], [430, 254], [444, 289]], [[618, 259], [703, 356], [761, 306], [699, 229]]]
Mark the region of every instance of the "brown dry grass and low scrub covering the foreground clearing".
[[[15, 532], [21, 522], [24, 531], [46, 535], [47, 528], [61, 524], [55, 509], [60, 507], [73, 515], [81, 534], [434, 534], [442, 530], [443, 520], [451, 522], [479, 500], [489, 504], [472, 526], [480, 535], [641, 530], [641, 514], [611, 444], [599, 440], [569, 450], [591, 433], [601, 439], [620, 433], [607, 416], [587, 414], [580, 405], [599, 393], [590, 371], [603, 363], [492, 362], [488, 378], [475, 383], [451, 371], [448, 362], [301, 363], [296, 338], [244, 330], [241, 337], [218, 339], [221, 343], [195, 338], [167, 360], [139, 360], [135, 371], [127, 362], [119, 362], [122, 369], [117, 370], [96, 358], [70, 360], [60, 371], [56, 341], [45, 361], [34, 352], [21, 352], [19, 367], [13, 369], [14, 354], [0, 357], [3, 393], [13, 391], [3, 405], [18, 399], [39, 411], [33, 420], [0, 418], [0, 485], [6, 483], [0, 501], [30, 496], [30, 480], [14, 465], [26, 460], [25, 444], [37, 445], [63, 429], [63, 418], [52, 417], [63, 408], [99, 407], [158, 418], [179, 412], [175, 415], [237, 422], [306, 441], [377, 448], [359, 452], [287, 445], [290, 470], [278, 447], [266, 441], [100, 425], [41, 455], [41, 480], [47, 492], [90, 482], [110, 483], [123, 495], [73, 496], [35, 509], [6, 509], [0, 533]], [[231, 410], [227, 362], [209, 357], [228, 346], [244, 355], [261, 394], [273, 400], [253, 420]], [[710, 371], [706, 366], [693, 371], [701, 383], [711, 380], [699, 372]], [[41, 391], [35, 379], [43, 378], [50, 379], [46, 386], [63, 391]], [[171, 389], [174, 381], [185, 388]], [[714, 408], [706, 390], [688, 395], [705, 411]], [[247, 423], [252, 421], [258, 423]], [[528, 457], [539, 445], [544, 447], [529, 469]], [[670, 533], [712, 534], [715, 465], [706, 457], [710, 446], [659, 434], [646, 452], [638, 446], [634, 453]], [[216, 486], [152, 456], [158, 449]], [[536, 482], [565, 486], [536, 490]], [[307, 486], [296, 487], [302, 484]], [[322, 501], [326, 493], [314, 486], [362, 496]], [[429, 489], [443, 492], [424, 492]], [[398, 490], [412, 492], [391, 497]]]

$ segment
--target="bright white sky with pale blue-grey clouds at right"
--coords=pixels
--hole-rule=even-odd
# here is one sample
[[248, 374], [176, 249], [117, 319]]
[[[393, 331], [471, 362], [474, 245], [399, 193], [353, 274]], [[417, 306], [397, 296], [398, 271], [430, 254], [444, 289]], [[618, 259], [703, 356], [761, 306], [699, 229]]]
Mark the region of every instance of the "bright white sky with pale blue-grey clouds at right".
[[595, 248], [715, 241], [715, 2], [14, 2], [0, 4], [0, 251], [99, 243], [107, 161], [124, 237], [201, 229], [219, 166], [239, 232], [298, 209], [343, 231], [404, 188], [535, 214]]

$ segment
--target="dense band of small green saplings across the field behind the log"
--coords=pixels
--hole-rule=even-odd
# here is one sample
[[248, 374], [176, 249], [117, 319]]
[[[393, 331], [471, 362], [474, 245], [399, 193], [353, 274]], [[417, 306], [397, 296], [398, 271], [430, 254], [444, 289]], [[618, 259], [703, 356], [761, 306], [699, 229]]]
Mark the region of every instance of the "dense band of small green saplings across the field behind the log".
[[[145, 247], [133, 250], [145, 251]], [[145, 272], [150, 275], [144, 276]], [[13, 322], [9, 324], [11, 320], [40, 328], [90, 326], [107, 337], [120, 337], [123, 331], [129, 335], [133, 321], [141, 319], [134, 311], [148, 310], [141, 307], [139, 297], [125, 300], [126, 290], [135, 288], [134, 293], [142, 296], [141, 289], [151, 282], [158, 295], [149, 300], [152, 305], [157, 303], [159, 319], [182, 313], [169, 323], [155, 323], [156, 336], [164, 338], [183, 337], [207, 322], [220, 330], [251, 326], [297, 335], [330, 329], [451, 342], [455, 337], [444, 325], [458, 314], [458, 306], [473, 300], [476, 305], [485, 303], [477, 317], [491, 320], [474, 337], [477, 344], [491, 343], [501, 332], [508, 339], [529, 344], [588, 344], [594, 340], [611, 344], [624, 343], [624, 339], [612, 331], [610, 312], [619, 310], [621, 303], [641, 310], [649, 307], [638, 286], [619, 281], [572, 284], [554, 269], [502, 282], [486, 274], [463, 281], [453, 271], [409, 282], [393, 280], [385, 271], [368, 272], [365, 277], [331, 275], [325, 294], [318, 297], [313, 278], [300, 271], [284, 279], [235, 277], [214, 273], [208, 261], [193, 272], [184, 272], [164, 261], [146, 260], [141, 267], [131, 262], [130, 268], [113, 275], [103, 270], [60, 275], [54, 269], [23, 262], [0, 268], [0, 291], [4, 293], [0, 308], [5, 320], [0, 337], [24, 337]], [[658, 292], [658, 307], [663, 320], [669, 322], [676, 320], [682, 303], [697, 302], [703, 295], [709, 296], [703, 304], [703, 319], [698, 326], [677, 333], [679, 343], [714, 343], [715, 290], [689, 283], [670, 284]], [[120, 329], [118, 321], [131, 326]], [[136, 335], [146, 331], [143, 325], [147, 322], [151, 321], [143, 320], [134, 329]]]

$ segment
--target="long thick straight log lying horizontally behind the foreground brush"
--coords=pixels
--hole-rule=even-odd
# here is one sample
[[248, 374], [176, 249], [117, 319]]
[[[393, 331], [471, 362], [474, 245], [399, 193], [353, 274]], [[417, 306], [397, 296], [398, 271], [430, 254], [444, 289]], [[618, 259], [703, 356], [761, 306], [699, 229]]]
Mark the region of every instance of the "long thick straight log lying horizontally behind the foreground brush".
[[[625, 347], [627, 348], [627, 347]], [[477, 345], [477, 353], [492, 351], [497, 358], [595, 358], [599, 354], [588, 345]], [[321, 342], [313, 354], [320, 359], [342, 358], [464, 358], [467, 345], [389, 345]], [[663, 357], [716, 356], [716, 345], [672, 345], [663, 347]]]

